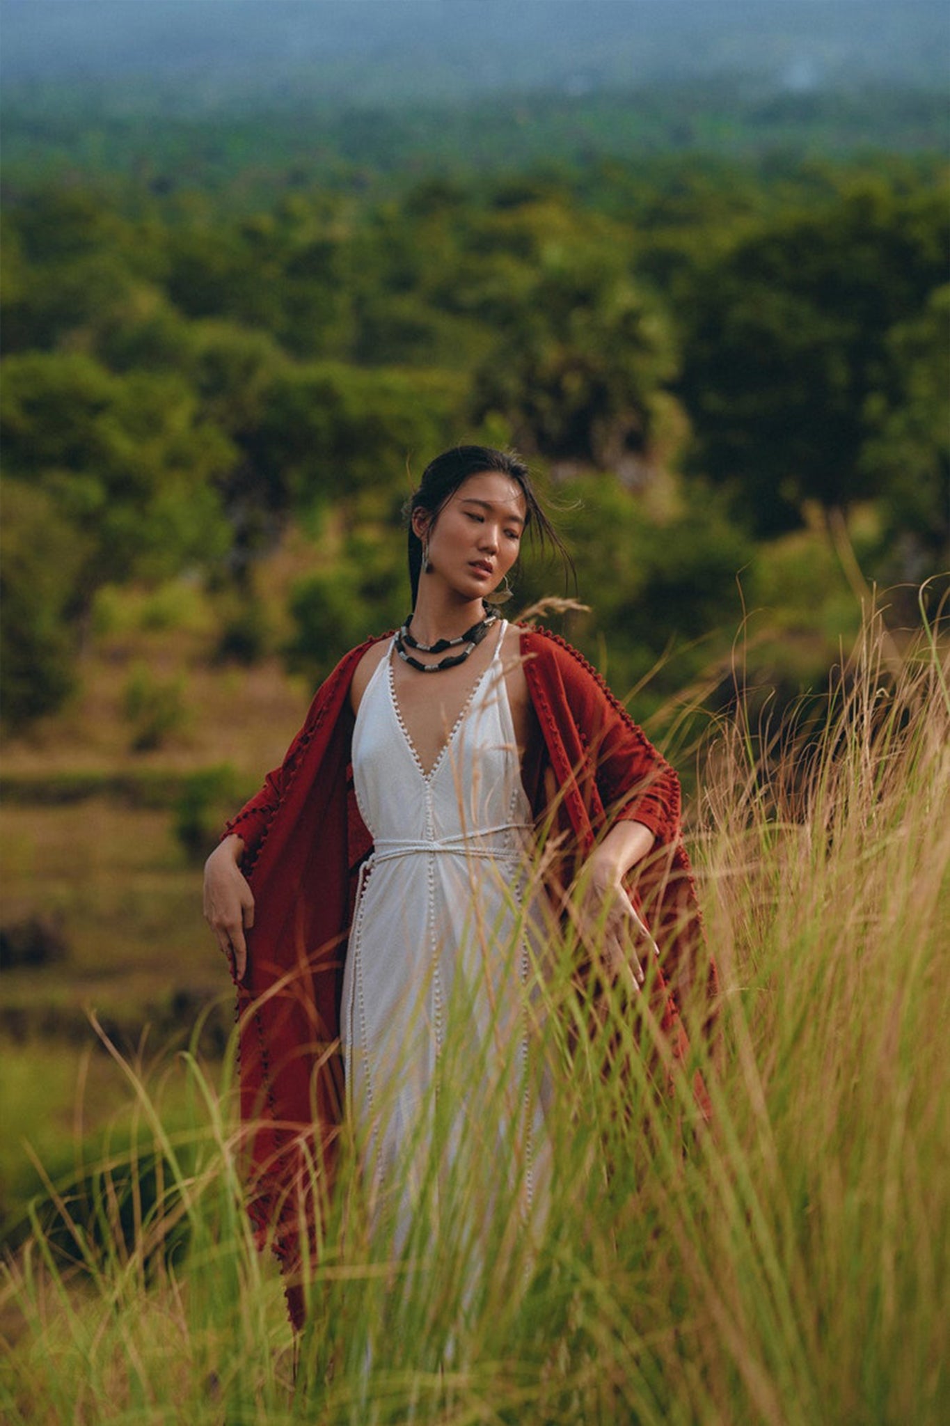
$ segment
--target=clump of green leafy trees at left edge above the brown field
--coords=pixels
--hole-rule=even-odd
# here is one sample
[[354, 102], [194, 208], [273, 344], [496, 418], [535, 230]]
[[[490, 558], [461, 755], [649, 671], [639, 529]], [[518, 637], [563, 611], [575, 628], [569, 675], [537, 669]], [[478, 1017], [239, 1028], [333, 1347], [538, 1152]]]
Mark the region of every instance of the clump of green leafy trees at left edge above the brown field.
[[9, 356], [0, 419], [10, 522], [6, 716], [26, 723], [54, 712], [68, 692], [71, 626], [85, 619], [97, 589], [224, 558], [229, 536], [215, 479], [234, 448], [199, 418], [179, 378], [118, 376], [77, 354]]

